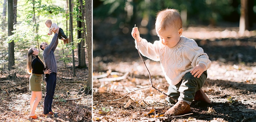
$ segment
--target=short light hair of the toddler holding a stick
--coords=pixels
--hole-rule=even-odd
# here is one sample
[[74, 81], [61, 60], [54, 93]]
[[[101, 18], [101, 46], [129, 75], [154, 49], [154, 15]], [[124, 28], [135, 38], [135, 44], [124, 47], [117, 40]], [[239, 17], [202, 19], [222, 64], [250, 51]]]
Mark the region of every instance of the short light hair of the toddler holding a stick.
[[177, 30], [182, 28], [182, 20], [178, 10], [165, 9], [157, 13], [155, 23], [156, 32], [165, 30], [168, 27], [175, 28]]

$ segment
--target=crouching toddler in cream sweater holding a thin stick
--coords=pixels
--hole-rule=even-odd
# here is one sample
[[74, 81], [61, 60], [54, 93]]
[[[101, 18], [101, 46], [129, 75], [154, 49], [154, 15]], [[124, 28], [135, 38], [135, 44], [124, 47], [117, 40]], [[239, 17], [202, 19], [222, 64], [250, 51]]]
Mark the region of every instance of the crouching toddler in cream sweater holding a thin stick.
[[[157, 14], [155, 23], [159, 41], [153, 44], [140, 37], [138, 28], [132, 30], [132, 37], [138, 43], [140, 53], [154, 61], [160, 61], [167, 82], [170, 84], [167, 97], [173, 107], [165, 115], [181, 115], [191, 112], [193, 100], [211, 104], [202, 91], [211, 61], [193, 39], [182, 35], [182, 20], [175, 9], [165, 9]], [[136, 40], [135, 40], [136, 42]], [[135, 43], [137, 48], [137, 44]]]

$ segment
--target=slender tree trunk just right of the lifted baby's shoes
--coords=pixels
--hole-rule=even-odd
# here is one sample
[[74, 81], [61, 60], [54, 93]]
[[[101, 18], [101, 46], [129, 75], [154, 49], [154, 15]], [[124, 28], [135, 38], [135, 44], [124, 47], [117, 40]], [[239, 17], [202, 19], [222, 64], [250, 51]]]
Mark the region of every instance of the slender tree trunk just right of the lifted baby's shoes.
[[[69, 30], [70, 30], [70, 41], [72, 46], [74, 45], [73, 41], [73, 15], [72, 15], [73, 6], [71, 4], [71, 0], [69, 0]], [[74, 49], [72, 50], [72, 62], [73, 62], [73, 76], [76, 77], [76, 69], [75, 69], [75, 55]]]

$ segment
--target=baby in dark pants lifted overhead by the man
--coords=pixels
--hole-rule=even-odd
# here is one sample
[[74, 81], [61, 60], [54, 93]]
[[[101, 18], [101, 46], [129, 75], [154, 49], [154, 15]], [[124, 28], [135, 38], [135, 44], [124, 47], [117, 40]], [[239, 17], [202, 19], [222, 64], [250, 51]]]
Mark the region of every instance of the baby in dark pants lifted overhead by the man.
[[[55, 24], [55, 23], [52, 23], [51, 20], [47, 20], [47, 21], [45, 22], [45, 25], [49, 28], [49, 32], [48, 32], [47, 35], [52, 35], [52, 32], [56, 32], [56, 30], [57, 30], [57, 28], [58, 28], [58, 25]], [[60, 40], [63, 40], [64, 45], [65, 45], [66, 43], [69, 43], [68, 37], [64, 34], [64, 31], [63, 31], [61, 28], [59, 29], [58, 38], [59, 38]]]

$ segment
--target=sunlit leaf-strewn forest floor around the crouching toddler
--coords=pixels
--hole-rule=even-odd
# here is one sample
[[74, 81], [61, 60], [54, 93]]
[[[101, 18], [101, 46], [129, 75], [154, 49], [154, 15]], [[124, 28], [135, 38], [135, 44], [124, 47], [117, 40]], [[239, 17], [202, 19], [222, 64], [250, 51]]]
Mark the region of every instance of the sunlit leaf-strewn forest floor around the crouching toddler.
[[[137, 88], [150, 86], [148, 71], [135, 49], [132, 37], [127, 35], [107, 42], [94, 40], [94, 44], [98, 45], [93, 51], [93, 121], [256, 121], [255, 35], [195, 40], [212, 61], [207, 70], [208, 78], [202, 87], [212, 104], [204, 106], [192, 102], [192, 114], [185, 116], [163, 116], [173, 104], [168, 103], [166, 96], [152, 87], [136, 90], [120, 100], [108, 101], [121, 98]], [[168, 83], [160, 63], [145, 57], [143, 59], [151, 74], [153, 86], [166, 93]]]

